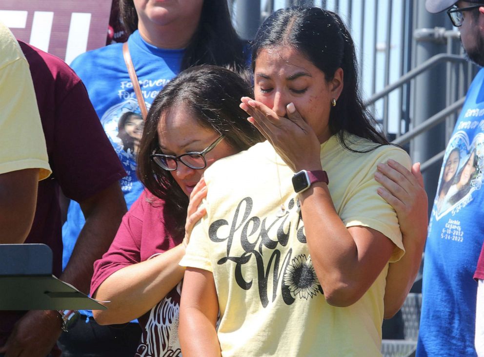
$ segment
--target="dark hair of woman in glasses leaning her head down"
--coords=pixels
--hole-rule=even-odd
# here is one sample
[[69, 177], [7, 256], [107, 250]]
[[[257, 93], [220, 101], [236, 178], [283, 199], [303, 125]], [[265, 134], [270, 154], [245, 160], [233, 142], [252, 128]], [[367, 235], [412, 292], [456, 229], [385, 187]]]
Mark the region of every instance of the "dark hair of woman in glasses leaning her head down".
[[166, 84], [148, 111], [138, 154], [138, 176], [153, 195], [165, 201], [165, 211], [175, 217], [179, 230], [184, 228], [188, 197], [172, 175], [150, 159], [160, 148], [161, 115], [183, 107], [201, 126], [225, 135], [227, 144], [242, 151], [264, 140], [239, 107], [243, 96], [252, 96], [251, 84], [236, 73], [212, 65], [195, 66]]

